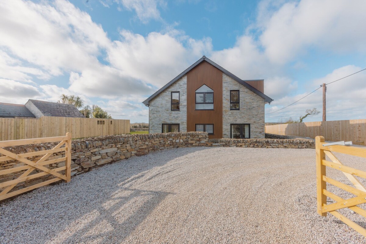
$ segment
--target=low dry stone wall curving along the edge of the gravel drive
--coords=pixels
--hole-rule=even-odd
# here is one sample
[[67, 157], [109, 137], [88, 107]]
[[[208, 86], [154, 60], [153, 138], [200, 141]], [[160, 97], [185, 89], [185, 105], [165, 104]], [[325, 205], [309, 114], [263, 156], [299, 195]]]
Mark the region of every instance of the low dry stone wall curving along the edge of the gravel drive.
[[[24, 146], [6, 147], [13, 153], [30, 153], [52, 149], [57, 143], [41, 143]], [[207, 132], [171, 132], [157, 134], [113, 135], [72, 140], [71, 151], [71, 176], [99, 168], [105, 164], [120, 161], [132, 156], [141, 156], [152, 151], [173, 149], [177, 147], [195, 146], [222, 146], [222, 147], [272, 147], [272, 148], [314, 148], [313, 140], [298, 139], [208, 139]], [[1, 154], [0, 154], [1, 156]], [[36, 162], [42, 156], [29, 157]], [[64, 157], [64, 153], [53, 154], [48, 160]], [[0, 170], [15, 168], [25, 165], [19, 161], [0, 162]], [[49, 169], [64, 166], [65, 162], [46, 165]], [[34, 170], [33, 173], [39, 173]], [[32, 174], [33, 174], [32, 173]], [[61, 172], [63, 173], [63, 172]], [[16, 179], [22, 172], [4, 174], [0, 176], [0, 183]], [[22, 189], [30, 185], [52, 179], [53, 176], [43, 176], [19, 183], [13, 190]], [[0, 191], [2, 189], [0, 188]]]

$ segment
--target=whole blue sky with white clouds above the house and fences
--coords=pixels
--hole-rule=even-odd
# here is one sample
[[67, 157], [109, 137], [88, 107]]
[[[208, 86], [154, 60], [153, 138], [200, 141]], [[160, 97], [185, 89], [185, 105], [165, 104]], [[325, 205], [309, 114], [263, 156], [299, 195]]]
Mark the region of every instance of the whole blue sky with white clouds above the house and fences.
[[[266, 122], [322, 108], [321, 83], [366, 67], [366, 2], [340, 0], [6, 1], [0, 5], [0, 102], [80, 95], [116, 119], [197, 61], [265, 79]], [[366, 71], [329, 85], [327, 120], [365, 119]], [[269, 114], [271, 113], [271, 114]], [[321, 120], [321, 114], [305, 121]]]

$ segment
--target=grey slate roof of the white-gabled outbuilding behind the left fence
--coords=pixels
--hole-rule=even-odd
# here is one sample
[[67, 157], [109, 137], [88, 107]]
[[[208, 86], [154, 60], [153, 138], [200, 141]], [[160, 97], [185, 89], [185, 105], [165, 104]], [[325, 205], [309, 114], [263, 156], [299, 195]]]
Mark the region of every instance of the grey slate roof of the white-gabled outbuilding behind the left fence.
[[31, 101], [44, 116], [85, 118], [72, 104], [61, 104], [59, 102], [46, 102], [33, 99], [29, 99], [29, 101]]

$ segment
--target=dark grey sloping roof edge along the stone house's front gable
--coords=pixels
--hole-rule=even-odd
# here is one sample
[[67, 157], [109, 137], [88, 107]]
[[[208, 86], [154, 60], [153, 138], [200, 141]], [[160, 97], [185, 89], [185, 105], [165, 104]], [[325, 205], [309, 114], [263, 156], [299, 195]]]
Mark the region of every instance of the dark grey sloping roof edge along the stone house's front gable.
[[191, 71], [194, 67], [196, 67], [198, 64], [200, 64], [201, 62], [206, 61], [207, 63], [211, 64], [213, 67], [217, 68], [218, 70], [221, 70], [225, 75], [231, 77], [232, 79], [234, 79], [236, 82], [239, 82], [240, 84], [242, 84], [243, 86], [245, 86], [247, 89], [253, 91], [255, 94], [257, 94], [259, 97], [262, 97], [265, 100], [265, 103], [267, 102], [272, 102], [273, 99], [268, 97], [267, 95], [265, 95], [264, 93], [262, 93], [261, 91], [258, 91], [257, 89], [255, 89], [253, 86], [249, 85], [248, 83], [244, 82], [242, 79], [239, 79], [237, 76], [235, 76], [234, 74], [230, 73], [229, 71], [225, 70], [223, 67], [221, 67], [220, 65], [214, 63], [212, 60], [208, 59], [206, 56], [201, 57], [201, 59], [199, 59], [197, 62], [195, 62], [194, 64], [192, 64], [189, 68], [187, 68], [185, 71], [183, 71], [182, 73], [180, 73], [180, 75], [178, 75], [176, 78], [172, 79], [167, 85], [161, 87], [161, 89], [159, 89], [156, 93], [152, 94], [149, 98], [147, 98], [145, 101], [143, 101], [142, 103], [145, 105], [149, 105], [150, 101], [156, 97], [157, 95], [159, 95], [160, 93], [162, 93], [165, 89], [167, 89], [169, 86], [171, 86], [174, 82], [176, 82], [177, 80], [179, 80], [180, 78], [182, 78], [185, 74], [187, 74], [189, 71]]

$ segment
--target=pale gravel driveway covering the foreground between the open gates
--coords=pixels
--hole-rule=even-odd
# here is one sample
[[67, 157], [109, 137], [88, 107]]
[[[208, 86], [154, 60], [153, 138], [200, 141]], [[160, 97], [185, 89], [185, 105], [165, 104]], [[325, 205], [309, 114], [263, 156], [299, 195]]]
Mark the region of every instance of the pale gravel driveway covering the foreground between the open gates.
[[[366, 159], [337, 156], [366, 168]], [[337, 170], [327, 174], [348, 183]], [[342, 213], [366, 227], [360, 215]], [[317, 215], [314, 149], [164, 150], [0, 203], [0, 243], [365, 241], [332, 215]]]

